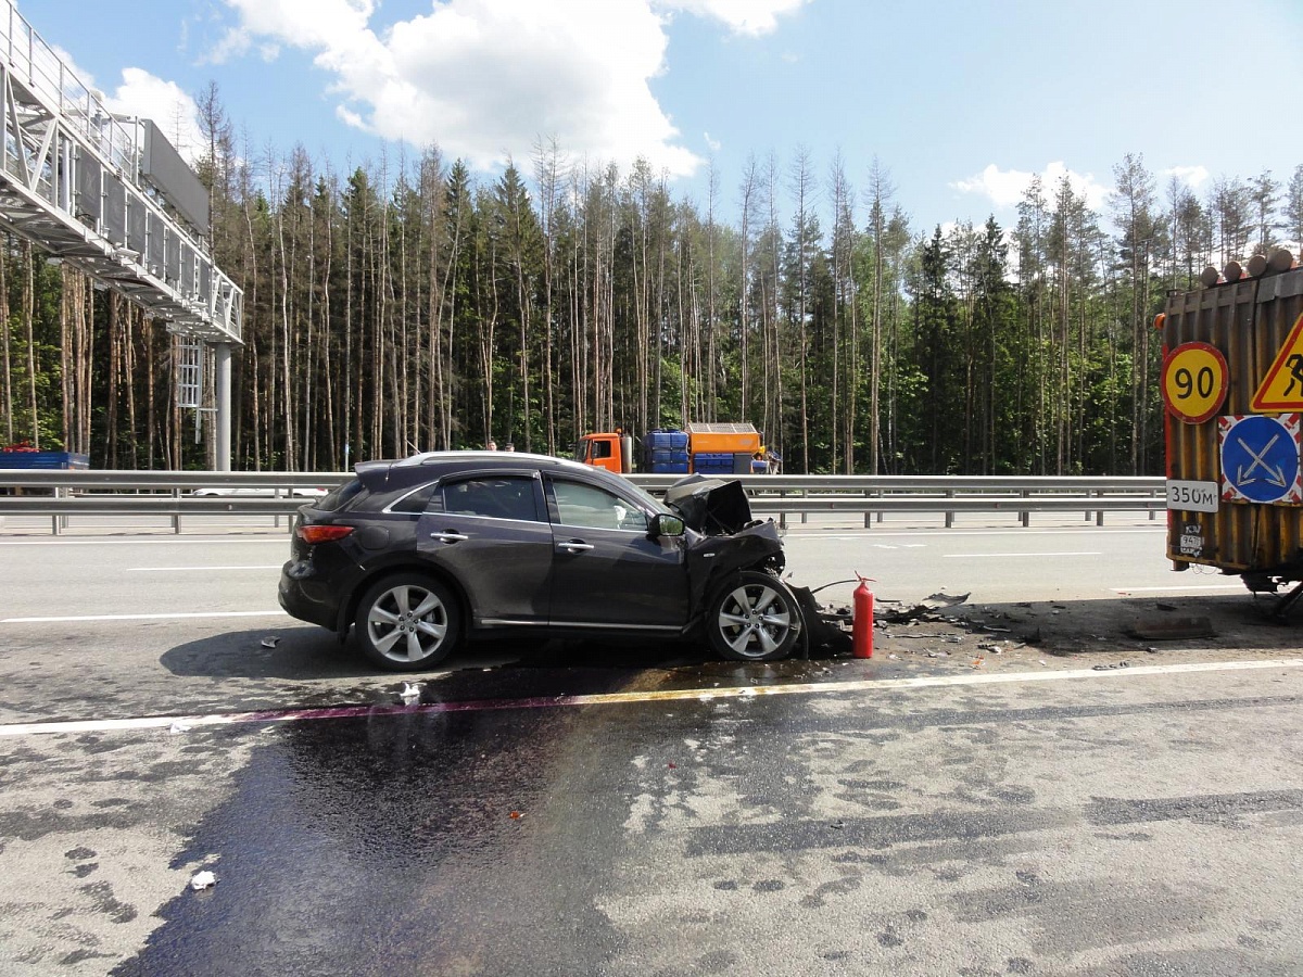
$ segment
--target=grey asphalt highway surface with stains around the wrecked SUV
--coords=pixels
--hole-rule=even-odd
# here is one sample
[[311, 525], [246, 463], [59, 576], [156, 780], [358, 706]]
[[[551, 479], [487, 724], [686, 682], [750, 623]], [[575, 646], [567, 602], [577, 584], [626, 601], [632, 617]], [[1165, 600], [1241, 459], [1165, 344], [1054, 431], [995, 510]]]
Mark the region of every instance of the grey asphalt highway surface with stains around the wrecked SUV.
[[0, 974], [1299, 973], [1295, 628], [1143, 517], [787, 550], [969, 610], [396, 679], [279, 614], [284, 530], [0, 535]]

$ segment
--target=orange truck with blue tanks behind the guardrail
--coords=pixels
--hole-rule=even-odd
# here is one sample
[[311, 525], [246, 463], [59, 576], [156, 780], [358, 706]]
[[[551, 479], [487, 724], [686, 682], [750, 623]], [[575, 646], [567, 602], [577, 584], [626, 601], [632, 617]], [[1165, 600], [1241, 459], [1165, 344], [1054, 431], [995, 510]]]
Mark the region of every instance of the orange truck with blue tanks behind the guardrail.
[[687, 425], [681, 431], [657, 430], [641, 442], [620, 429], [585, 434], [576, 446], [575, 457], [585, 465], [597, 465], [616, 474], [697, 472], [741, 475], [769, 468], [760, 431], [740, 423]]

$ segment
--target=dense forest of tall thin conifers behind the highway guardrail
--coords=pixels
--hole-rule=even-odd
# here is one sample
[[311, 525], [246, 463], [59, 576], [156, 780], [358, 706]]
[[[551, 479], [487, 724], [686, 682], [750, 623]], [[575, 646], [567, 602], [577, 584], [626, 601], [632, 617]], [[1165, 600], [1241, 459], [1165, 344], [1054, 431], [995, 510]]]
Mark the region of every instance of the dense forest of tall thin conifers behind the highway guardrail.
[[[752, 158], [705, 201], [545, 142], [496, 178], [437, 149], [340, 175], [201, 108], [236, 469], [748, 421], [790, 473], [1153, 474], [1165, 293], [1303, 240], [1303, 165], [1200, 198], [1127, 155], [1102, 212], [1033, 180], [1012, 228], [917, 229], [878, 160]], [[165, 323], [8, 236], [0, 323], [4, 443], [212, 465]]]

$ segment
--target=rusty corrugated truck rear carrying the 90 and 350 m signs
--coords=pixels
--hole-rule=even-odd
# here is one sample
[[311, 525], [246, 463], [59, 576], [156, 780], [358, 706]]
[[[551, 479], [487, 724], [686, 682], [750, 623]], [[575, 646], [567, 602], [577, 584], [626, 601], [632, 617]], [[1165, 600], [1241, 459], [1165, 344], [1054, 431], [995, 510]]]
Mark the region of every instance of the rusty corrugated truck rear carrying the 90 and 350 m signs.
[[1167, 558], [1303, 595], [1303, 268], [1277, 249], [1209, 267], [1162, 331]]

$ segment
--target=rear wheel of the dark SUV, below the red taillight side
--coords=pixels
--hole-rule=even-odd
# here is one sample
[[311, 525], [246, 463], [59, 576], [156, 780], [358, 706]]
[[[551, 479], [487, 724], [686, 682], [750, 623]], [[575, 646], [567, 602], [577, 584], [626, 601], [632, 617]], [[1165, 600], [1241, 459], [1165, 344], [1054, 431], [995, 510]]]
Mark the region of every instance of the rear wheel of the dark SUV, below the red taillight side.
[[438, 664], [461, 637], [461, 612], [448, 589], [421, 573], [375, 584], [357, 606], [364, 654], [382, 668], [416, 672]]

